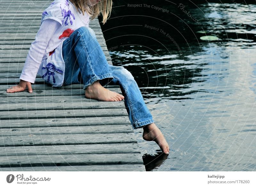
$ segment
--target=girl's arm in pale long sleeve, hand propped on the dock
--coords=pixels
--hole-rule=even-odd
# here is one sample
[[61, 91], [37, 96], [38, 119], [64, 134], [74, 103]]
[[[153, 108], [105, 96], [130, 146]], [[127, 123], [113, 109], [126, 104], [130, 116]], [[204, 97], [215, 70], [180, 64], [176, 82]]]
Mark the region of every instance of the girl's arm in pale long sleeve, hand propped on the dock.
[[61, 24], [53, 19], [45, 19], [37, 34], [35, 41], [31, 43], [28, 55], [20, 75], [20, 84], [13, 86], [6, 91], [9, 93], [24, 91], [28, 87], [29, 93], [32, 93], [31, 83], [36, 80], [36, 74], [42, 62], [44, 52], [49, 40]]

